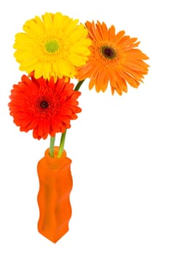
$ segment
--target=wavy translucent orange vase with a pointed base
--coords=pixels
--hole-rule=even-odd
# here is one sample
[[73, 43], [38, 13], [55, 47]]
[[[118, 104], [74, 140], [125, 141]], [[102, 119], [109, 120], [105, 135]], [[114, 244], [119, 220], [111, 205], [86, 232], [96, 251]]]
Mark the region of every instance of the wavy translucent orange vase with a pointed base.
[[72, 208], [69, 195], [72, 190], [72, 160], [66, 157], [66, 151], [57, 158], [45, 151], [45, 157], [39, 160], [37, 171], [39, 176], [39, 221], [38, 230], [42, 236], [55, 243], [69, 230], [69, 219]]

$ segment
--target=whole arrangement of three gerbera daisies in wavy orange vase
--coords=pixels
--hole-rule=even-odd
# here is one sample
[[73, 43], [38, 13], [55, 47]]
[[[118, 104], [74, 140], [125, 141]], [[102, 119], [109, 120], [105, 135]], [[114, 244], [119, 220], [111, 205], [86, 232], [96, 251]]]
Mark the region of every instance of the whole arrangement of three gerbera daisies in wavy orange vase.
[[[72, 207], [72, 160], [64, 142], [71, 120], [81, 112], [80, 87], [88, 79], [89, 89], [112, 95], [137, 88], [148, 72], [148, 57], [137, 48], [136, 37], [116, 34], [103, 22], [79, 23], [60, 12], [27, 20], [15, 36], [15, 59], [26, 72], [9, 96], [9, 112], [21, 132], [47, 139], [50, 146], [39, 160], [38, 230], [54, 243], [69, 230]], [[77, 80], [77, 84], [72, 83]], [[55, 135], [61, 143], [55, 146]]]

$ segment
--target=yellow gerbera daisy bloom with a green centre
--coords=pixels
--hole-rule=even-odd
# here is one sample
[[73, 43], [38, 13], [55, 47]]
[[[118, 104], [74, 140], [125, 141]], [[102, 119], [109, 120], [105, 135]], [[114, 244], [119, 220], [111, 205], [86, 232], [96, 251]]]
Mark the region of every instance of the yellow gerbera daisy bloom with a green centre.
[[88, 31], [79, 20], [60, 12], [46, 12], [42, 18], [26, 21], [24, 33], [15, 36], [15, 58], [20, 70], [34, 71], [35, 78], [73, 78], [75, 67], [88, 60], [90, 39]]

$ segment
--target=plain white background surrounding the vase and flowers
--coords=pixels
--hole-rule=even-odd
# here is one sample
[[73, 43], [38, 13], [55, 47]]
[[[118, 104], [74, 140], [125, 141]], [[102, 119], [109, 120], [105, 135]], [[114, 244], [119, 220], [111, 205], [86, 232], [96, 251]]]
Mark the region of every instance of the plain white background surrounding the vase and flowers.
[[[1, 1], [0, 255], [170, 255], [169, 1]], [[139, 89], [112, 97], [82, 86], [82, 113], [72, 121], [72, 219], [56, 244], [36, 228], [36, 164], [50, 143], [19, 132], [7, 104], [22, 72], [15, 34], [45, 12], [100, 20], [141, 41], [150, 71]], [[60, 136], [56, 138], [58, 145]]]

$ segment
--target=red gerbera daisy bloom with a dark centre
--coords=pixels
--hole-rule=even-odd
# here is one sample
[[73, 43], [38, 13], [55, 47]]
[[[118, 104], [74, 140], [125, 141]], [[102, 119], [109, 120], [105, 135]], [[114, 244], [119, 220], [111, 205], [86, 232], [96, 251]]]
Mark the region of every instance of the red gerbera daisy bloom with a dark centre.
[[73, 88], [74, 84], [64, 78], [55, 82], [53, 78], [48, 81], [23, 75], [9, 97], [14, 123], [22, 132], [33, 129], [33, 137], [37, 139], [65, 132], [71, 127], [70, 121], [81, 111], [77, 106], [80, 92]]

